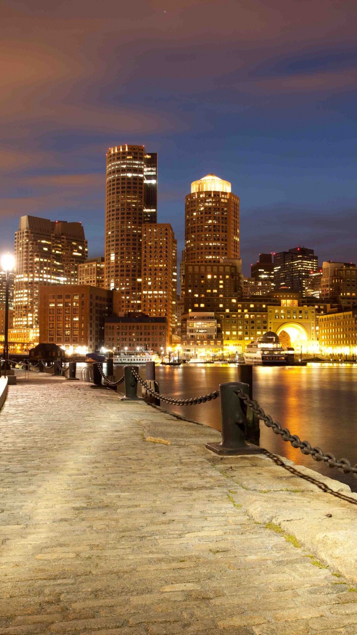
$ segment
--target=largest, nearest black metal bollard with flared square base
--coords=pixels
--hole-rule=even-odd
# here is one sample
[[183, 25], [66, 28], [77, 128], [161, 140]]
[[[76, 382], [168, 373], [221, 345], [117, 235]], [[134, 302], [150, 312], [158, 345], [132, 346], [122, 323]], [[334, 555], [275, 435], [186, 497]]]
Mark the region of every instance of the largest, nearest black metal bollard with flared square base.
[[220, 384], [220, 411], [222, 413], [221, 443], [206, 443], [206, 448], [220, 455], [262, 454], [263, 448], [246, 443], [246, 406], [237, 389], [248, 394], [247, 384], [228, 382]]

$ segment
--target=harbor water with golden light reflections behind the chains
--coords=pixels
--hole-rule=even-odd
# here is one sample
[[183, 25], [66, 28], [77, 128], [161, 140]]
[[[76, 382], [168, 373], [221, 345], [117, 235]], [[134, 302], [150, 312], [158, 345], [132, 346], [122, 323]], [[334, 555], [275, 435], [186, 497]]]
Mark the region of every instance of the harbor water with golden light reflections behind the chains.
[[[121, 375], [119, 369], [118, 377]], [[145, 376], [145, 369], [140, 370]], [[183, 364], [178, 368], [157, 366], [156, 378], [160, 391], [175, 398], [196, 397], [211, 392], [224, 382], [237, 379], [237, 368], [230, 364], [217, 366]], [[288, 427], [292, 434], [307, 439], [335, 457], [346, 457], [357, 463], [356, 411], [357, 367], [330, 364], [309, 366], [272, 366], [253, 368], [254, 398], [266, 413]], [[167, 410], [220, 429], [220, 401], [215, 399], [197, 406], [170, 406]], [[264, 424], [260, 425], [260, 444], [268, 450], [291, 458], [318, 472], [348, 483], [357, 491], [357, 481], [352, 476], [340, 474], [337, 469], [313, 461], [290, 443], [282, 441]]]

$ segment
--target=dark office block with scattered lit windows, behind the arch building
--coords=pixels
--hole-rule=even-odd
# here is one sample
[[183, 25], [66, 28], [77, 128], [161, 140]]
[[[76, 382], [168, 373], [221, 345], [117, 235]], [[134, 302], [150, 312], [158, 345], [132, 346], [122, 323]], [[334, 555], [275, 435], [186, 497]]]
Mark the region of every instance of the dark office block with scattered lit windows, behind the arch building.
[[318, 257], [313, 249], [295, 247], [274, 253], [274, 282], [276, 290], [282, 286], [304, 293], [306, 278], [318, 270]]

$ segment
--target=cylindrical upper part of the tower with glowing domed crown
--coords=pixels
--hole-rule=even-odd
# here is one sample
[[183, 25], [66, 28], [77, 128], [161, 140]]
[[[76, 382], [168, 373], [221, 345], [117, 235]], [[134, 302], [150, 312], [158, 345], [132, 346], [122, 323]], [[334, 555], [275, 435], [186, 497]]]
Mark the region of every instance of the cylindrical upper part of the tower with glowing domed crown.
[[208, 174], [185, 199], [185, 264], [239, 258], [239, 198], [231, 184]]

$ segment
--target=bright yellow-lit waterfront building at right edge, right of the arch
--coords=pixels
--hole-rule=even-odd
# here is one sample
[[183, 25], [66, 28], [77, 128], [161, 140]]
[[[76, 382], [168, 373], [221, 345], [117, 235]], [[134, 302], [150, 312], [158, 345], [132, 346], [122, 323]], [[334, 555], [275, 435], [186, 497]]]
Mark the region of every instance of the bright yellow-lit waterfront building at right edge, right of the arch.
[[357, 309], [334, 309], [320, 317], [320, 348], [325, 354], [357, 352]]

